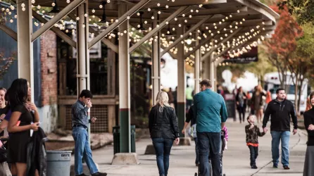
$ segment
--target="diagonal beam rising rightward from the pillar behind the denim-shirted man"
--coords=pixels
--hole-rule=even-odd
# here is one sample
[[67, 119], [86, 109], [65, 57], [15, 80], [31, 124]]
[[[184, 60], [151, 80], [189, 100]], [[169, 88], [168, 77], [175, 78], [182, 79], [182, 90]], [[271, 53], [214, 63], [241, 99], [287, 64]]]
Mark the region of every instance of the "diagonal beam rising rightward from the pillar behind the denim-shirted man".
[[[145, 6], [145, 4], [147, 4], [149, 1], [151, 0], [141, 0], [139, 1], [136, 5], [134, 5], [129, 11], [126, 11], [123, 15], [119, 15], [118, 18], [118, 22], [117, 23], [113, 23], [112, 25], [110, 25], [109, 27], [107, 27], [106, 30], [104, 30], [103, 32], [101, 32], [99, 35], [97, 35], [94, 39], [92, 39], [91, 42], [89, 42], [88, 46], [89, 48], [91, 48], [92, 46], [94, 46], [94, 44], [96, 44], [97, 42], [99, 42], [101, 39], [103, 39], [103, 37], [105, 37], [109, 32], [113, 31], [115, 29], [115, 27], [118, 27], [120, 24], [122, 24], [123, 22], [125, 22], [125, 20], [127, 20], [127, 17], [133, 15], [133, 13], [139, 11], [139, 9], [141, 9], [143, 6]], [[127, 28], [125, 29], [121, 29], [121, 30], [127, 30]]]

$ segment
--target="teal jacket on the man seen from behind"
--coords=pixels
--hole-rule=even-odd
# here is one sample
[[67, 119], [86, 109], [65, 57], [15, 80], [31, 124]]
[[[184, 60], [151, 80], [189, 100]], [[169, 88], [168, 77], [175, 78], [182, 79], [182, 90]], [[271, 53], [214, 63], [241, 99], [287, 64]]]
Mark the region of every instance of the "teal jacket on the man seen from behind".
[[196, 115], [197, 132], [220, 132], [221, 122], [228, 118], [223, 97], [206, 89], [194, 95], [194, 115]]

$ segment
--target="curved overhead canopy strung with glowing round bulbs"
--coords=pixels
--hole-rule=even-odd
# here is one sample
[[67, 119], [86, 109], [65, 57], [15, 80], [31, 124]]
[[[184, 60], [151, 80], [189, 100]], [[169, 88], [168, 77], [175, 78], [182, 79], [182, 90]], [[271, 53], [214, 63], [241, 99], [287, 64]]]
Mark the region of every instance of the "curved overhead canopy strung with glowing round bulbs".
[[[32, 3], [37, 12], [40, 13], [42, 13], [42, 7], [58, 6], [61, 10], [63, 9], [61, 11], [62, 16], [68, 15], [75, 21], [74, 11], [69, 11], [69, 13], [64, 13], [64, 11], [70, 5], [75, 8], [77, 4], [82, 3], [82, 0], [51, 0], [51, 2], [33, 0]], [[131, 9], [130, 13], [127, 13], [123, 18], [118, 17], [120, 4], [128, 4], [128, 9]], [[141, 5], [139, 6], [139, 4]], [[94, 21], [96, 17], [103, 20], [103, 9], [106, 20], [108, 20], [108, 23], [91, 22], [89, 24], [94, 25], [92, 32], [96, 32], [92, 36], [96, 37], [103, 30], [106, 32], [89, 42], [89, 47], [99, 42], [103, 37], [118, 37], [120, 34], [129, 32], [128, 34], [133, 37], [130, 41], [132, 42], [130, 52], [132, 52], [142, 43], [152, 42], [153, 34], [161, 31], [162, 47], [165, 49], [161, 55], [170, 51], [172, 56], [175, 56], [177, 52], [175, 44], [185, 41], [187, 44], [184, 57], [191, 59], [194, 58], [194, 52], [197, 49], [201, 49], [203, 58], [209, 56], [211, 52], [215, 52], [216, 56], [227, 51], [233, 51], [230, 53], [231, 55], [245, 52], [246, 49], [249, 49], [250, 44], [257, 44], [259, 40], [272, 34], [275, 30], [276, 20], [279, 19], [279, 15], [275, 11], [256, 0], [89, 0], [88, 8], [87, 15], [89, 15], [90, 21]], [[118, 31], [118, 25], [127, 19], [130, 21], [131, 28]], [[156, 19], [160, 26], [154, 30], [152, 24], [153, 20]], [[60, 20], [56, 21], [59, 21], [60, 24]], [[62, 24], [59, 27], [61, 30], [65, 30]], [[184, 27], [184, 31], [188, 33], [178, 36], [177, 29], [179, 27]], [[200, 33], [201, 42], [199, 46], [192, 43], [195, 41], [195, 32]], [[36, 37], [39, 37], [41, 32], [37, 33]], [[146, 37], [144, 37], [145, 35]], [[106, 39], [103, 42], [109, 44]], [[113, 44], [109, 45], [118, 52]]]

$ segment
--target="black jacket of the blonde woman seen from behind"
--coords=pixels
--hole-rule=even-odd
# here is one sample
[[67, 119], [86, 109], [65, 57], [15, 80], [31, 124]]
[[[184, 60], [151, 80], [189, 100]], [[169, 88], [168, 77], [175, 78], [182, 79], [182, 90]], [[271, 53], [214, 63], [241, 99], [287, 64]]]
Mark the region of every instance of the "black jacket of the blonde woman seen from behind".
[[151, 138], [175, 139], [180, 137], [175, 110], [170, 106], [153, 106], [149, 112], [149, 133]]

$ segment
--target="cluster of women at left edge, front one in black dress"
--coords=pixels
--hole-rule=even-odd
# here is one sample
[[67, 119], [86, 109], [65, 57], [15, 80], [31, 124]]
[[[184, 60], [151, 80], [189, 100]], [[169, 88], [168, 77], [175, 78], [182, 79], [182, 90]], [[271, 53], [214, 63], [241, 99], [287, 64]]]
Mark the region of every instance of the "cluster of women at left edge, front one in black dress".
[[14, 80], [8, 90], [0, 88], [0, 113], [0, 175], [46, 175], [46, 135], [27, 80]]

